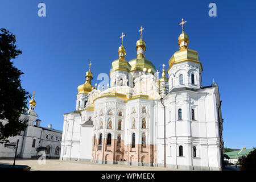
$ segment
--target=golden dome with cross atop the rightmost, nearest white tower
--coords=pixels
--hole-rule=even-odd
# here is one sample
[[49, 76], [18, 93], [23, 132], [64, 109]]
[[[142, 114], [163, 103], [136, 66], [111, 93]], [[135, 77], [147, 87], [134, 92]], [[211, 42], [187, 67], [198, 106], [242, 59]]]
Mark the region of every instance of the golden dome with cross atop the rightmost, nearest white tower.
[[[184, 24], [185, 22], [182, 21], [180, 24], [182, 24], [182, 23]], [[180, 34], [178, 40], [179, 40], [179, 42], [178, 42], [179, 51], [176, 51], [174, 53], [174, 55], [172, 55], [171, 59], [169, 60], [170, 68], [172, 67], [172, 65], [174, 65], [176, 63], [181, 63], [183, 61], [192, 61], [195, 63], [199, 63], [201, 65], [201, 70], [203, 71], [203, 67], [200, 62], [198, 52], [188, 49], [189, 39], [188, 39], [188, 34], [186, 34], [184, 32], [184, 28], [183, 28], [182, 33]]]

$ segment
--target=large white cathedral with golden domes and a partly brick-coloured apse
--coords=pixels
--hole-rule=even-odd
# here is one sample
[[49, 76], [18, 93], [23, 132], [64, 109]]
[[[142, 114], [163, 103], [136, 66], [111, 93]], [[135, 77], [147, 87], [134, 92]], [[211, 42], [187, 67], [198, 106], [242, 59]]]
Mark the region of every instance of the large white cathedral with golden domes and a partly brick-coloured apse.
[[77, 88], [76, 110], [63, 114], [60, 160], [221, 170], [218, 85], [203, 86], [203, 66], [198, 52], [188, 48], [185, 22], [180, 23], [179, 50], [170, 55], [167, 70], [163, 64], [160, 78], [146, 59], [142, 27], [137, 57], [130, 61], [125, 59], [125, 35], [120, 37], [107, 88], [92, 86], [89, 67]]

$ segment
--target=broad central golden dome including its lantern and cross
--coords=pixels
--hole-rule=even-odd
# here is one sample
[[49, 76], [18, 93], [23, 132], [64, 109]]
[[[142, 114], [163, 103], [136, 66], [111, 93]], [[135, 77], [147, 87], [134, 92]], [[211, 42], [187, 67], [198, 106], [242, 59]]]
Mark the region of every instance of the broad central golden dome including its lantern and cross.
[[141, 39], [136, 42], [136, 51], [137, 51], [137, 58], [132, 59], [129, 61], [131, 65], [131, 72], [132, 71], [143, 71], [144, 68], [147, 68], [147, 71], [154, 74], [155, 73], [155, 66], [151, 63], [150, 60], [145, 59], [145, 51], [146, 51], [146, 42], [142, 39], [142, 30], [144, 28], [141, 27]]

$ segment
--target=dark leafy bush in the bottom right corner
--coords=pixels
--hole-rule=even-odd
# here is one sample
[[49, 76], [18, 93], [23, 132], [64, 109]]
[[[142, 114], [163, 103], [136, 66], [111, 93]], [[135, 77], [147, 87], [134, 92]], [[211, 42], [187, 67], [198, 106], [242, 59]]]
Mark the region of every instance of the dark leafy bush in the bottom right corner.
[[238, 163], [241, 165], [242, 171], [255, 171], [256, 170], [256, 148], [253, 148], [253, 151], [247, 156], [241, 156], [238, 159]]

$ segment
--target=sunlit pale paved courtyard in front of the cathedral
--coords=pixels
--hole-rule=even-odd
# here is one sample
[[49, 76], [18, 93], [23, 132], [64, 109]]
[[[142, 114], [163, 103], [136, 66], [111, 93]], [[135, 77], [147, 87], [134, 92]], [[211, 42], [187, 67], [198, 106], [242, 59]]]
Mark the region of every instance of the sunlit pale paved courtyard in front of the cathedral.
[[[13, 164], [13, 159], [0, 159], [0, 164]], [[163, 167], [126, 166], [117, 164], [96, 164], [91, 162], [61, 161], [47, 159], [46, 164], [39, 164], [37, 159], [16, 159], [15, 164], [27, 165], [31, 171], [167, 171]]]

